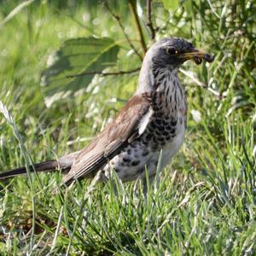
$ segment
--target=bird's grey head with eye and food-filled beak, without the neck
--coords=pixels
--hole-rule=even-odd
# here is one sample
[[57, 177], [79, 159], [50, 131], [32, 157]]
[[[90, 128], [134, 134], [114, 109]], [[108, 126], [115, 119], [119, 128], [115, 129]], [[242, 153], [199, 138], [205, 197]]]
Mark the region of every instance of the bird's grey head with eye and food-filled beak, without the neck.
[[150, 59], [151, 65], [155, 67], [174, 69], [188, 60], [193, 60], [196, 64], [201, 64], [202, 60], [212, 62], [214, 56], [196, 49], [183, 38], [163, 38], [148, 49], [145, 59]]

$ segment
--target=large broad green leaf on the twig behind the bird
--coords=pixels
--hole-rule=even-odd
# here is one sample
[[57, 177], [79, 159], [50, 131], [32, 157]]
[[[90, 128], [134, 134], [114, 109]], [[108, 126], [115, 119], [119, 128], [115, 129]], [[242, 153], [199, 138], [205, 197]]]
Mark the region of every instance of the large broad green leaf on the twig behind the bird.
[[94, 75], [67, 78], [84, 72], [102, 71], [116, 64], [119, 46], [110, 38], [76, 38], [49, 55], [48, 67], [41, 79], [45, 103], [50, 107], [55, 101], [73, 96], [85, 89]]

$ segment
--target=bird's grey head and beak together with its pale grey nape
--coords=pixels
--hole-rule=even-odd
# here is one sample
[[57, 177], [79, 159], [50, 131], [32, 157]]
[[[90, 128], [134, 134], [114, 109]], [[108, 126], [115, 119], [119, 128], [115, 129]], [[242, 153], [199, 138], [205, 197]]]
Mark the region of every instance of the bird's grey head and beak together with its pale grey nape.
[[136, 94], [146, 90], [155, 90], [155, 77], [158, 73], [167, 72], [177, 76], [178, 68], [184, 61], [194, 60], [212, 62], [214, 57], [204, 50], [195, 49], [194, 45], [183, 38], [162, 38], [154, 43], [147, 51], [139, 76]]

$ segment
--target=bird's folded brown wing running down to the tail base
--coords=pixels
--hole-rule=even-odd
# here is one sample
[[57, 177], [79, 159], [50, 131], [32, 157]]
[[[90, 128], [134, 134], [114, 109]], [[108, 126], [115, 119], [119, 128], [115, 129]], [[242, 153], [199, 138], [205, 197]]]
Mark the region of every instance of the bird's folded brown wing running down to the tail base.
[[141, 127], [146, 127], [145, 122], [150, 118], [148, 113], [152, 113], [148, 97], [132, 96], [117, 118], [81, 151], [70, 172], [63, 177], [63, 183], [71, 183], [73, 179], [80, 177], [90, 177], [100, 170], [108, 160], [131, 143], [134, 137], [142, 134]]

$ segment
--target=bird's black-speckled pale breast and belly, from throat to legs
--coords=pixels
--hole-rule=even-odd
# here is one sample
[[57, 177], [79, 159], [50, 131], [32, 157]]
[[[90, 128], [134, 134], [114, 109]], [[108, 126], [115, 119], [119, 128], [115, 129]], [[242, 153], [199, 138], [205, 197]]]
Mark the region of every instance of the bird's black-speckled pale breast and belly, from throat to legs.
[[[168, 73], [168, 71], [166, 71]], [[168, 75], [165, 77], [168, 78]], [[102, 175], [109, 177], [115, 170], [123, 181], [144, 177], [147, 166], [149, 177], [154, 177], [162, 149], [161, 167], [165, 167], [183, 143], [187, 104], [177, 73], [163, 81], [159, 90], [146, 94], [152, 115], [140, 137], [128, 144], [109, 160]], [[157, 79], [157, 78], [156, 78]]]

